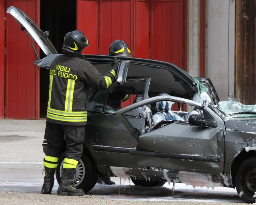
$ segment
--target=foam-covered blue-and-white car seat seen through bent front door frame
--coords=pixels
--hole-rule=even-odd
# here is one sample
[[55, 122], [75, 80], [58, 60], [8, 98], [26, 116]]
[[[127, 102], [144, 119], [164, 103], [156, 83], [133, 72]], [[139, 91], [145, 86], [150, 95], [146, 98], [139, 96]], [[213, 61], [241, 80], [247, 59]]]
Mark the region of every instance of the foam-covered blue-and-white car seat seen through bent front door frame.
[[[167, 93], [158, 94], [158, 96], [163, 96], [163, 95], [170, 96]], [[184, 121], [182, 117], [180, 117], [178, 114], [172, 111], [173, 105], [174, 105], [174, 102], [171, 102], [171, 101], [160, 101], [156, 103], [157, 113], [153, 115], [154, 125], [156, 125], [158, 122], [162, 120]]]

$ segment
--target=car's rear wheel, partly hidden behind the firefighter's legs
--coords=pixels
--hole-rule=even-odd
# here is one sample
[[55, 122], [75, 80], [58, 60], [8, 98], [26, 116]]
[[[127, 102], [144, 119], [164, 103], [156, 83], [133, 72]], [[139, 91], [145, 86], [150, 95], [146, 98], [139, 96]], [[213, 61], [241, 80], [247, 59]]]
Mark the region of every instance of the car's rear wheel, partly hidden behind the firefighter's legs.
[[[56, 179], [58, 184], [61, 182], [61, 170], [65, 154], [66, 152], [61, 154], [61, 157], [58, 159], [58, 166], [56, 169]], [[78, 189], [84, 190], [84, 193], [86, 193], [95, 186], [97, 180], [98, 174], [95, 165], [93, 165], [90, 159], [83, 154], [76, 166], [76, 181], [74, 180], [74, 186]]]

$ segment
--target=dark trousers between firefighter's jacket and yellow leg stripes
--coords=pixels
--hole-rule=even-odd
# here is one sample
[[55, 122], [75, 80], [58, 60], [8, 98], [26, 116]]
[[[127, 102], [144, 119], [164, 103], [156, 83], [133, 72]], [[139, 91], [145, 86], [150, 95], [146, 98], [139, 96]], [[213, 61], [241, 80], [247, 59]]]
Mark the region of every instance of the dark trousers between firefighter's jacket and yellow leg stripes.
[[66, 140], [67, 159], [79, 161], [83, 154], [84, 125], [60, 125], [47, 122], [44, 139], [47, 140], [46, 155], [59, 157]]

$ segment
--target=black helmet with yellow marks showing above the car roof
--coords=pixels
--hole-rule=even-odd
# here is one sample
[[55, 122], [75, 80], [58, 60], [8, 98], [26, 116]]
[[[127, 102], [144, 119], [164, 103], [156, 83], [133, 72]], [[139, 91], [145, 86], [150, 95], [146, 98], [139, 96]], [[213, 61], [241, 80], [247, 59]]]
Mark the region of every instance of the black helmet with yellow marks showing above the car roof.
[[110, 56], [131, 56], [128, 45], [123, 40], [115, 40], [109, 46], [108, 55]]

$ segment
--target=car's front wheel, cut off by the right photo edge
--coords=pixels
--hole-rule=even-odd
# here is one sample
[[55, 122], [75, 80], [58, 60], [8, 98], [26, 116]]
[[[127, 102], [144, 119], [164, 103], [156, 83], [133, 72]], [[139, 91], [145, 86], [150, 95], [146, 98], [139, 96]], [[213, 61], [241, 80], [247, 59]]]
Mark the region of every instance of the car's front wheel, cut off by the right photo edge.
[[235, 185], [238, 195], [244, 202], [256, 202], [256, 157], [246, 159], [239, 166]]

